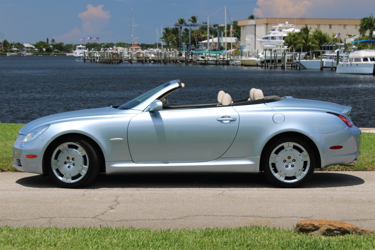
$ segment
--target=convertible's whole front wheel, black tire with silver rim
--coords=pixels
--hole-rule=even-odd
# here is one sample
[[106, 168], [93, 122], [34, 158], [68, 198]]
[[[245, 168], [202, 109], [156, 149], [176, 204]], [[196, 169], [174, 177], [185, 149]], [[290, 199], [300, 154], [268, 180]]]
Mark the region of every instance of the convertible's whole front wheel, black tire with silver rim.
[[46, 161], [52, 180], [66, 188], [83, 187], [98, 176], [100, 159], [94, 147], [78, 137], [53, 142]]

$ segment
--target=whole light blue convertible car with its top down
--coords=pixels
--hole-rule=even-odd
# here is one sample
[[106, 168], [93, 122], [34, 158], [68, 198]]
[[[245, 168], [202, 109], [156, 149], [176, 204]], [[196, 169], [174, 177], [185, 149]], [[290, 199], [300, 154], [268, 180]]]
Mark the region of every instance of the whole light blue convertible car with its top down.
[[49, 115], [27, 123], [13, 145], [13, 166], [81, 187], [99, 172], [264, 171], [272, 183], [296, 187], [314, 168], [354, 166], [361, 132], [351, 107], [263, 96], [168, 105], [183, 88], [167, 82], [121, 106]]

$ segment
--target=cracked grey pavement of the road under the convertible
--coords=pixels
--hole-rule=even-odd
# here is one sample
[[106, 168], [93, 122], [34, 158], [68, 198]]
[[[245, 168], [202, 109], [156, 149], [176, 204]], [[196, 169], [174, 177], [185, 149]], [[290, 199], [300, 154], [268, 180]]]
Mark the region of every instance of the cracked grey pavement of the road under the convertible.
[[152, 229], [344, 221], [375, 230], [375, 172], [315, 172], [296, 189], [263, 174], [99, 175], [83, 189], [49, 177], [0, 173], [0, 225]]

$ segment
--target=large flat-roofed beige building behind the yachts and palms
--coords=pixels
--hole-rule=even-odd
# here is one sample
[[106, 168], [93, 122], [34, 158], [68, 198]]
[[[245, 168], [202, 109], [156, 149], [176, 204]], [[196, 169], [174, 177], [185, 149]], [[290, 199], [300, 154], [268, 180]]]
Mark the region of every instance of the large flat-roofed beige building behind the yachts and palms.
[[[361, 19], [323, 19], [323, 18], [259, 18], [238, 21], [241, 27], [241, 45], [250, 44], [251, 49], [261, 51], [261, 43], [257, 39], [266, 36], [273, 30], [272, 26], [288, 22], [294, 24], [296, 29], [301, 29], [307, 24], [311, 32], [320, 29], [324, 33], [340, 33], [341, 39], [347, 39], [347, 35], [358, 35]], [[249, 48], [250, 49], [250, 48]]]

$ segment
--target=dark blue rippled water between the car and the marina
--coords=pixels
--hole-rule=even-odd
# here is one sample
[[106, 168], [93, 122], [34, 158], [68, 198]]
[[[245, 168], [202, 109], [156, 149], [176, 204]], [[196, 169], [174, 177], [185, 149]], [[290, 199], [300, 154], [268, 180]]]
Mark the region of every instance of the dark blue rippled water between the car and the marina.
[[265, 96], [352, 106], [356, 126], [375, 127], [375, 77], [371, 75], [241, 66], [112, 65], [67, 56], [0, 56], [0, 122], [27, 123], [59, 112], [121, 105], [173, 79], [186, 85], [173, 93], [171, 103], [214, 102], [219, 90], [233, 99], [243, 98], [255, 87]]

